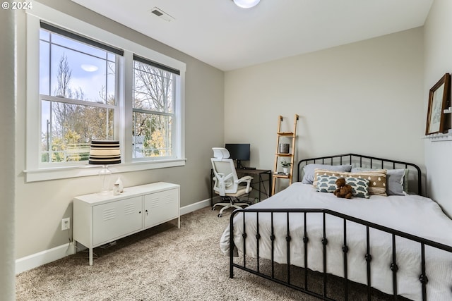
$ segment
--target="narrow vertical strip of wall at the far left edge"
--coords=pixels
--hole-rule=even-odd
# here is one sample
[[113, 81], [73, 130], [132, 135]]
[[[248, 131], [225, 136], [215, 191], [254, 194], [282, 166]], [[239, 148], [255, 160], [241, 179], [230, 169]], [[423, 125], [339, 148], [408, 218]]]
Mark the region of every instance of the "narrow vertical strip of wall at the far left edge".
[[15, 13], [0, 11], [0, 299], [14, 300]]

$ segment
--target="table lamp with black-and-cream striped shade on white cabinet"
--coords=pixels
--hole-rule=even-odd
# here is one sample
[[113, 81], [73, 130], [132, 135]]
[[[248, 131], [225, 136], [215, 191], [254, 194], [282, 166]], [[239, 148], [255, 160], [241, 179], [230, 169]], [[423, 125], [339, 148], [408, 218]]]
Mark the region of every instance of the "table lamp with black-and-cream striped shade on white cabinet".
[[89, 164], [102, 165], [99, 176], [102, 181], [100, 194], [107, 195], [109, 192], [109, 181], [112, 172], [109, 165], [121, 163], [121, 149], [117, 140], [93, 140], [91, 141]]

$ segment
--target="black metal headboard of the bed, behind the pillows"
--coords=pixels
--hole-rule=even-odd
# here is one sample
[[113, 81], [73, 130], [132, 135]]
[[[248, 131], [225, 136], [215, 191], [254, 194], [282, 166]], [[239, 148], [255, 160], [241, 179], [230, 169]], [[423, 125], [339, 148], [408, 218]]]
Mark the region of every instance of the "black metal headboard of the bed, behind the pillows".
[[304, 176], [303, 167], [307, 164], [351, 164], [354, 167], [381, 169], [407, 168], [410, 170], [410, 172], [408, 173], [408, 187], [410, 188], [410, 192], [415, 192], [417, 193], [417, 195], [422, 195], [421, 169], [416, 164], [391, 159], [376, 158], [374, 156], [365, 156], [362, 154], [337, 154], [333, 156], [320, 156], [318, 158], [303, 159], [298, 162], [298, 182], [302, 181], [302, 178]]

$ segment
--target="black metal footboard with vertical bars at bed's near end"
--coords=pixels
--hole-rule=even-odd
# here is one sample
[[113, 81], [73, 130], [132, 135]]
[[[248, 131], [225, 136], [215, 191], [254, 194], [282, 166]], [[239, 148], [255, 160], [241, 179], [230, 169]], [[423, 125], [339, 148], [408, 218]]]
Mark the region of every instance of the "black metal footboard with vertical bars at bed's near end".
[[[276, 225], [277, 219], [274, 219], [275, 215], [278, 215], [278, 225]], [[280, 216], [285, 216], [285, 219], [281, 219]], [[314, 235], [310, 232], [311, 229], [309, 228], [309, 225], [307, 225], [307, 220], [311, 219], [309, 216], [315, 216], [315, 219], [318, 219], [318, 223], [320, 225], [319, 231], [317, 231], [318, 235]], [[312, 219], [314, 219], [314, 217]], [[262, 223], [260, 220], [266, 221], [265, 223]], [[342, 224], [340, 227], [336, 227], [340, 228], [340, 233], [336, 235], [339, 238], [336, 238], [335, 245], [332, 243], [333, 240], [330, 235], [331, 231], [327, 226], [327, 223], [331, 223], [330, 221], [332, 220], [337, 222], [338, 225]], [[292, 227], [292, 223], [297, 223], [298, 228], [295, 229], [295, 226]], [[275, 231], [276, 227], [282, 228], [283, 231]], [[363, 229], [362, 238], [359, 238], [359, 241], [362, 242], [361, 260], [362, 262], [365, 261], [365, 263], [362, 264], [365, 271], [354, 271], [352, 269], [355, 269], [355, 266], [348, 263], [348, 253], [350, 251], [355, 251], [353, 248], [356, 247], [356, 245], [351, 240], [356, 237], [356, 233], [353, 232], [353, 228], [357, 227], [361, 227]], [[350, 231], [352, 233], [350, 233]], [[378, 260], [376, 260], [376, 262], [373, 260], [373, 250], [375, 250], [376, 247], [372, 245], [372, 239], [374, 239], [374, 241], [376, 240], [376, 233], [382, 233], [388, 237], [388, 242], [386, 244], [388, 250], [386, 253], [388, 253], [389, 256], [389, 262], [386, 262], [385, 266], [376, 266], [376, 262], [378, 262]], [[234, 239], [237, 241], [237, 238], [240, 238], [239, 240], [243, 240], [243, 242], [239, 245], [235, 245], [234, 242]], [[275, 240], [285, 240], [285, 262], [281, 262], [281, 259], [279, 258], [278, 263], [275, 259]], [[397, 231], [376, 223], [357, 219], [353, 216], [347, 216], [328, 209], [251, 208], [235, 210], [230, 218], [230, 277], [234, 277], [234, 268], [242, 269], [270, 281], [275, 281], [276, 283], [287, 285], [295, 290], [319, 297], [322, 300], [338, 300], [338, 298], [343, 300], [352, 300], [354, 297], [350, 297], [349, 287], [352, 283], [358, 282], [362, 283], [361, 286], [364, 287], [364, 290], [367, 290], [367, 293], [364, 293], [367, 295], [367, 300], [371, 300], [371, 295], [375, 293], [376, 289], [383, 291], [388, 295], [392, 295], [394, 300], [401, 300], [404, 298], [400, 297], [400, 294], [406, 293], [406, 279], [401, 278], [398, 273], [400, 270], [406, 270], [408, 266], [403, 266], [403, 263], [398, 258], [398, 247], [403, 247], [399, 245], [400, 240], [409, 240], [410, 244], [417, 246], [415, 249], [417, 249], [417, 252], [419, 253], [419, 265], [415, 267], [410, 266], [410, 269], [416, 269], [416, 271], [419, 271], [417, 280], [412, 280], [417, 282], [412, 283], [412, 285], [415, 285], [415, 287], [418, 288], [417, 290], [419, 294], [416, 295], [417, 297], [413, 297], [413, 299], [427, 300], [427, 296], [429, 295], [429, 277], [433, 276], [429, 275], [429, 272], [433, 269], [429, 269], [429, 264], [432, 264], [432, 266], [442, 264], [441, 262], [432, 262], [432, 257], [438, 260], [442, 259], [437, 257], [445, 257], [443, 258], [445, 260], [444, 263], [447, 262], [448, 265], [448, 270], [444, 272], [448, 276], [436, 275], [434, 281], [438, 281], [438, 278], [444, 278], [444, 281], [451, 281], [451, 246], [443, 245], [439, 242], [420, 238], [409, 233]], [[340, 243], [338, 243], [338, 241]], [[247, 250], [247, 247], [251, 249], [251, 247], [249, 247], [249, 242], [253, 242], [252, 245], [255, 245], [253, 248], [254, 250]], [[316, 264], [314, 268], [311, 268], [310, 261], [312, 256], [316, 254], [309, 254], [310, 244], [321, 244], [318, 254], [320, 263]], [[262, 254], [263, 252], [260, 250], [260, 247], [263, 245], [270, 245], [270, 255]], [[334, 248], [331, 245], [334, 245]], [[234, 257], [234, 249], [236, 247], [240, 251], [239, 257]], [[296, 249], [295, 252], [299, 255], [297, 259], [293, 258], [295, 257], [293, 255], [294, 248]], [[331, 254], [328, 252], [340, 254], [338, 256], [342, 257], [342, 260], [339, 259], [338, 264], [342, 265], [342, 271], [338, 272], [329, 270], [327, 260], [330, 259]], [[311, 251], [311, 253], [313, 252]], [[263, 269], [264, 261], [266, 262], [265, 272], [261, 271], [261, 269]], [[275, 276], [277, 273], [276, 271], [280, 266], [284, 266], [283, 276], [281, 276], [280, 273], [278, 273], [278, 276]], [[312, 271], [316, 271], [315, 273], [320, 275], [316, 278], [316, 281], [317, 284], [323, 287], [321, 291], [314, 291], [310, 288], [309, 277], [311, 277]], [[383, 271], [383, 273], [381, 271]], [[389, 281], [391, 283], [391, 288], [382, 289], [379, 287], [379, 283], [372, 283], [372, 279], [375, 279], [375, 273], [378, 275], [386, 275], [386, 278], [390, 278], [386, 279], [386, 282]], [[328, 286], [328, 279], [330, 279], [331, 274], [335, 274], [340, 277], [339, 282], [342, 283], [339, 285], [339, 290], [332, 290], [331, 286]], [[361, 274], [363, 276], [360, 281], [350, 279], [349, 275], [356, 276], [357, 274]], [[399, 290], [400, 282], [404, 283], [404, 290], [402, 292]], [[335, 281], [334, 285], [338, 286], [338, 281]], [[435, 283], [435, 286], [436, 285], [437, 283]], [[444, 300], [452, 300], [452, 282], [444, 283], [443, 285], [445, 285], [448, 289], [448, 293], [446, 293], [448, 295], [444, 296]], [[341, 295], [337, 295], [338, 291], [340, 291]]]

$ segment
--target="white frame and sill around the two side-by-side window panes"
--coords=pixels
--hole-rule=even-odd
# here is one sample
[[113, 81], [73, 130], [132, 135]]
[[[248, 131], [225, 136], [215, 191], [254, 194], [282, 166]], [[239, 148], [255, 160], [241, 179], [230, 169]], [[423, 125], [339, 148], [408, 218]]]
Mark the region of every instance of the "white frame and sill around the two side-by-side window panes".
[[[43, 167], [40, 164], [40, 90], [39, 90], [39, 32], [40, 20], [44, 20], [52, 25], [63, 29], [77, 32], [80, 35], [95, 39], [105, 44], [124, 49], [124, 63], [119, 63], [119, 76], [124, 77], [117, 85], [117, 103], [119, 106], [119, 118], [115, 121], [115, 136], [121, 144], [121, 164], [109, 166], [113, 173], [123, 173], [129, 171], [143, 171], [154, 168], [167, 168], [185, 165], [185, 137], [184, 137], [184, 95], [185, 95], [185, 70], [186, 64], [173, 59], [165, 54], [143, 47], [141, 44], [131, 42], [128, 39], [114, 35], [99, 27], [95, 27], [81, 20], [73, 18], [44, 6], [34, 3], [33, 9], [27, 11], [27, 109], [26, 109], [26, 163], [25, 179], [27, 182], [40, 180], [53, 180], [59, 178], [73, 178], [80, 176], [95, 176], [98, 168], [90, 166], [88, 162], [77, 166], [52, 166]], [[142, 56], [151, 61], [156, 61], [162, 65], [180, 71], [179, 80], [176, 82], [176, 89], [180, 91], [176, 94], [175, 118], [174, 121], [174, 158], [159, 159], [148, 158], [146, 160], [132, 159], [132, 98], [133, 98], [133, 54]], [[124, 68], [124, 70], [122, 70]]]

